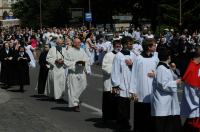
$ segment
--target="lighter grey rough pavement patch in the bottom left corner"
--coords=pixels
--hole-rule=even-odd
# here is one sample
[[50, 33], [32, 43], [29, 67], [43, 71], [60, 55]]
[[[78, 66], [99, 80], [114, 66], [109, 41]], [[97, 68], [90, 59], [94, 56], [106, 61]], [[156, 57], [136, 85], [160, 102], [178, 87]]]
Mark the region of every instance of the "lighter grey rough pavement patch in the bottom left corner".
[[23, 97], [0, 90], [0, 132], [61, 132], [50, 120], [30, 110]]

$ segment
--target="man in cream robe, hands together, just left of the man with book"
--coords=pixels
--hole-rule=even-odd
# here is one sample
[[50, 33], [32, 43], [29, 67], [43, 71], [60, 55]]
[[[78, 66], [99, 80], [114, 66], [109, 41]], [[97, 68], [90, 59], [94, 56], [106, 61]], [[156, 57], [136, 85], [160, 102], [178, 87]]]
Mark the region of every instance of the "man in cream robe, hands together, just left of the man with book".
[[61, 39], [57, 39], [56, 44], [55, 47], [49, 50], [46, 58], [50, 68], [45, 87], [45, 95], [54, 99], [61, 99], [65, 93], [66, 65], [64, 63], [64, 54], [66, 48], [62, 46], [63, 40]]

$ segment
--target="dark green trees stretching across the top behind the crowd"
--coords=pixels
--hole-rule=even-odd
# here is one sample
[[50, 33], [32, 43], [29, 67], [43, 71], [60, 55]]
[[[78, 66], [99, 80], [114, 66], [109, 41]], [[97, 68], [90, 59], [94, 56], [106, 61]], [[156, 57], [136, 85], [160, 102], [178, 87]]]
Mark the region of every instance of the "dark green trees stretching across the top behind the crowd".
[[[84, 8], [88, 12], [88, 0], [41, 0], [44, 26], [64, 26], [69, 22], [69, 8]], [[135, 3], [141, 7], [137, 9]], [[23, 26], [39, 27], [40, 0], [22, 0], [12, 5], [14, 15]], [[180, 28], [179, 0], [91, 0], [93, 23], [112, 23], [112, 15], [131, 13], [133, 22], [151, 20], [155, 31], [160, 25]], [[200, 28], [199, 0], [182, 0], [181, 28]], [[139, 23], [138, 23], [139, 24]]]

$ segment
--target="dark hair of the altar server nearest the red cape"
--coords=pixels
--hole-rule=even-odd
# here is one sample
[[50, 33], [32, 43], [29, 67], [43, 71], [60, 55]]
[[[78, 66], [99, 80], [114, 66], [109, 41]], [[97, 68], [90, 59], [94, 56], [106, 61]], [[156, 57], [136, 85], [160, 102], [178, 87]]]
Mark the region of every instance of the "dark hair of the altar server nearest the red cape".
[[169, 59], [170, 51], [168, 50], [166, 46], [159, 47], [157, 51], [158, 51], [158, 58], [160, 61], [166, 61]]

